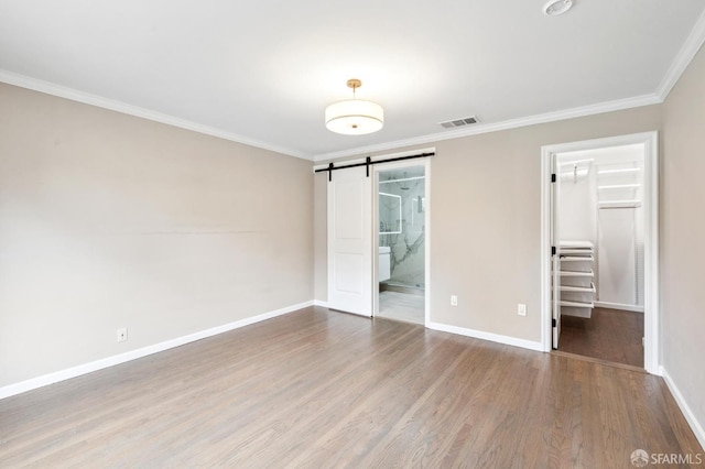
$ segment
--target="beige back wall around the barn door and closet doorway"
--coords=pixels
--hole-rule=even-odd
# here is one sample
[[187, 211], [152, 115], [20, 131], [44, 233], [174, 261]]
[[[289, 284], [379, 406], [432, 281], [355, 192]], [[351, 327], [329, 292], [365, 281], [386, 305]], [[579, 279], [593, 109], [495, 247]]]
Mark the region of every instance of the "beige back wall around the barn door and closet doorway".
[[[431, 320], [540, 342], [541, 146], [660, 128], [660, 107], [649, 106], [437, 142], [431, 159]], [[325, 184], [324, 175], [316, 178], [324, 179], [317, 188]], [[318, 231], [323, 205], [315, 219]], [[325, 246], [315, 252], [316, 266], [323, 265]], [[325, 292], [325, 276], [317, 274], [316, 283], [316, 293]], [[517, 315], [517, 303], [527, 304], [525, 317]]]

